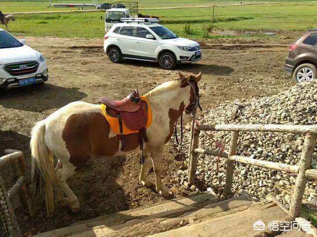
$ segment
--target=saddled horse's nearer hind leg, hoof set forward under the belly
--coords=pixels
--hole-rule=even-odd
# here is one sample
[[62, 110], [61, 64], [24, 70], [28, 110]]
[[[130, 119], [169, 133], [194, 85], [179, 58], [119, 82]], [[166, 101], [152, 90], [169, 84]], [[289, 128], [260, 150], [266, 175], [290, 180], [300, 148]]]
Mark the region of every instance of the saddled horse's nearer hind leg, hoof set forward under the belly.
[[72, 165], [69, 161], [62, 162], [62, 167], [55, 171], [55, 177], [58, 189], [60, 189], [60, 191], [62, 191], [68, 198], [68, 200], [63, 197], [61, 197], [61, 199], [64, 202], [68, 201], [69, 207], [73, 212], [78, 212], [80, 208], [78, 198], [74, 195], [74, 193], [71, 191], [66, 183], [66, 180], [76, 173], [75, 168], [76, 167]]

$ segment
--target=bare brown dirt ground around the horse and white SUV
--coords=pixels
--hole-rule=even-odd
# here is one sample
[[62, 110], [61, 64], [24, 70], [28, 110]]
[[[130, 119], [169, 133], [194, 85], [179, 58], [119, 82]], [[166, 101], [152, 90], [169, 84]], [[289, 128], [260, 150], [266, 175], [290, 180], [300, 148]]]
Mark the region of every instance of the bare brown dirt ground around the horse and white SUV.
[[[283, 40], [205, 40], [200, 41], [203, 60], [183, 65], [177, 70], [188, 75], [203, 73], [201, 105], [212, 108], [221, 101], [275, 94], [293, 84], [283, 72], [288, 46], [294, 38]], [[125, 61], [111, 63], [103, 54], [103, 39], [26, 38], [28, 45], [41, 51], [50, 71], [43, 86], [29, 86], [0, 92], [0, 155], [11, 148], [25, 153], [30, 173], [30, 130], [35, 122], [46, 118], [60, 107], [76, 100], [99, 103], [107, 95], [122, 98], [138, 88], [141, 93], [163, 81], [176, 77], [177, 70], [165, 71], [156, 63]], [[186, 119], [189, 122], [189, 118]], [[162, 161], [163, 183], [173, 191], [173, 197], [188, 195], [175, 188], [171, 177], [182, 160], [169, 142]], [[91, 164], [68, 181], [81, 202], [81, 211], [71, 213], [56, 207], [53, 217], [46, 217], [44, 202], [34, 199], [37, 217], [31, 219], [15, 203], [15, 212], [22, 232], [33, 233], [71, 225], [75, 221], [93, 218], [163, 200], [155, 187], [147, 189], [138, 183], [139, 153], [126, 158], [92, 158]], [[2, 177], [10, 183], [9, 170], [3, 167]], [[150, 178], [154, 181], [153, 170]]]

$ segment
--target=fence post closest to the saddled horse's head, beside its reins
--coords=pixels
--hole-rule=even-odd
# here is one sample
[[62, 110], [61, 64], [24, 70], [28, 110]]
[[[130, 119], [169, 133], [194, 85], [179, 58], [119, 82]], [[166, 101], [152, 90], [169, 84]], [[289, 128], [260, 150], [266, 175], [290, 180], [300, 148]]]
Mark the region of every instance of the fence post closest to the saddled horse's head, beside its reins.
[[194, 139], [193, 144], [191, 146], [190, 156], [189, 156], [189, 165], [188, 165], [188, 183], [190, 185], [195, 184], [196, 179], [196, 169], [197, 169], [197, 157], [198, 153], [194, 152], [196, 148], [198, 148], [199, 143], [199, 134], [200, 131], [197, 130], [195, 127], [193, 129], [194, 131]]

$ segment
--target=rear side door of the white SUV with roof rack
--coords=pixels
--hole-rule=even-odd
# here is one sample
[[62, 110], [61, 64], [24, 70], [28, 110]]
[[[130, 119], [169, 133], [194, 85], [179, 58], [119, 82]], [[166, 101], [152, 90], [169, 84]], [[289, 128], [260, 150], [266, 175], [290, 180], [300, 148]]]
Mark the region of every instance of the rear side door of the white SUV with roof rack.
[[135, 54], [135, 27], [122, 26], [115, 42], [119, 46], [123, 57], [132, 57]]

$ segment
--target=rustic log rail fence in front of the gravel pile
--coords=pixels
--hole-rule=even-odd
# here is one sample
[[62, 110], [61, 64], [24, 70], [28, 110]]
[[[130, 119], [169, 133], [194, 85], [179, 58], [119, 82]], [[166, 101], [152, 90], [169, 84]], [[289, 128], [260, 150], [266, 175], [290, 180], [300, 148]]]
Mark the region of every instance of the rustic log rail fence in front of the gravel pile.
[[[302, 205], [302, 198], [304, 195], [306, 183], [308, 178], [317, 179], [317, 170], [310, 169], [312, 164], [312, 156], [317, 139], [317, 125], [278, 125], [278, 124], [218, 124], [218, 125], [197, 125], [192, 126], [193, 139], [191, 141], [191, 149], [189, 155], [188, 175], [189, 183], [194, 184], [196, 178], [196, 167], [198, 154], [206, 154], [211, 156], [218, 156], [216, 151], [210, 151], [205, 149], [199, 149], [199, 134], [200, 131], [230, 131], [231, 139], [229, 151], [220, 154], [220, 157], [226, 158], [226, 180], [223, 190], [224, 197], [228, 197], [232, 188], [232, 177], [234, 171], [234, 162], [251, 164], [268, 169], [275, 169], [280, 171], [286, 171], [289, 173], [297, 174], [294, 191], [291, 199], [291, 205], [289, 209], [289, 215], [295, 218], [299, 215]], [[237, 156], [236, 148], [238, 143], [239, 132], [283, 132], [283, 133], [296, 133], [306, 134], [304, 146], [302, 149], [302, 155], [299, 165], [289, 165], [283, 163], [270, 162], [265, 160], [259, 160], [249, 157]]]

